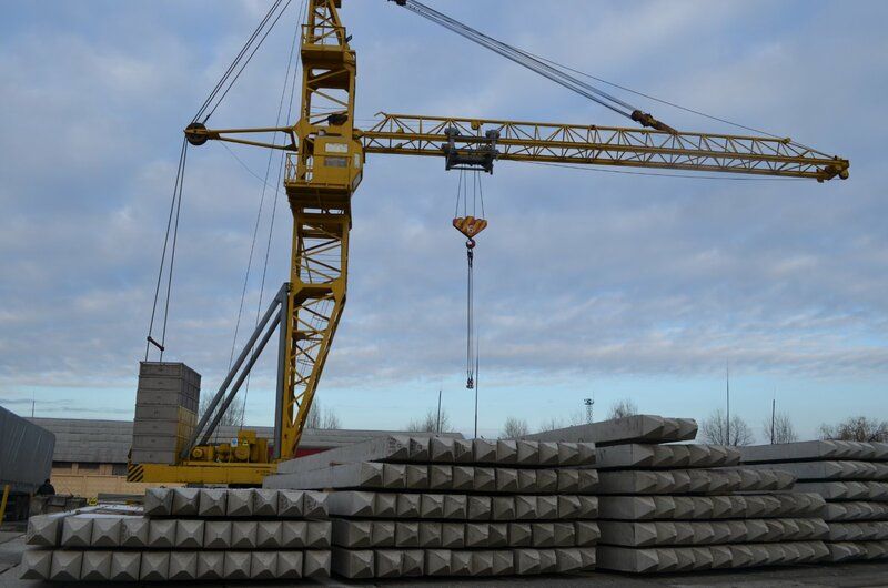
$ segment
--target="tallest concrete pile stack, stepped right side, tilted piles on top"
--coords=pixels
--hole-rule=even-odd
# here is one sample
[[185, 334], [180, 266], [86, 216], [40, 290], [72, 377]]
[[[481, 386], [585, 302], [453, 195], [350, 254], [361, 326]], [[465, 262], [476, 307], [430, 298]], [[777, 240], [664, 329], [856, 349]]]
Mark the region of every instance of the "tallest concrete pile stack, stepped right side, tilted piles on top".
[[[690, 419], [648, 415], [534, 438], [597, 447], [598, 568], [667, 572], [817, 561], [827, 533], [817, 495], [790, 493], [786, 473], [737, 466], [739, 453], [693, 440]], [[765, 493], [781, 491], [780, 495]]]

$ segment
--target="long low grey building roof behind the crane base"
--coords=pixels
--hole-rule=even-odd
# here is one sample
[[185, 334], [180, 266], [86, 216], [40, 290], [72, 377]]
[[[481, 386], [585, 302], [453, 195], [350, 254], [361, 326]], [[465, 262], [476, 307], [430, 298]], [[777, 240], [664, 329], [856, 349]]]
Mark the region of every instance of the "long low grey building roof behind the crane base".
[[[89, 462], [102, 464], [125, 464], [132, 446], [132, 420], [99, 420], [90, 418], [28, 418], [56, 435], [53, 462]], [[274, 436], [272, 427], [251, 427], [261, 438]], [[220, 426], [211, 439], [223, 443], [238, 436], [239, 427]], [[304, 449], [332, 449], [352, 445], [385, 435], [404, 435], [401, 430], [359, 430], [359, 429], [305, 429], [300, 447]], [[411, 435], [422, 435], [411, 433]], [[444, 434], [448, 437], [463, 436], [458, 433]]]

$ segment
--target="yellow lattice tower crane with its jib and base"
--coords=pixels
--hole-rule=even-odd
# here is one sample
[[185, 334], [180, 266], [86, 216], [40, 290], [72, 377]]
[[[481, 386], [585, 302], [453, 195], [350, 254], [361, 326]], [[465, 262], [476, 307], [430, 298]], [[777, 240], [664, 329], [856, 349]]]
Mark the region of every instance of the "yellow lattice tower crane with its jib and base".
[[[593, 100], [613, 98], [542, 58], [495, 41], [415, 0], [395, 1]], [[357, 129], [357, 60], [340, 19], [340, 8], [341, 0], [309, 0], [300, 42], [302, 102], [294, 125], [208, 129], [195, 121], [185, 129], [192, 145], [214, 140], [287, 152], [284, 187], [293, 213], [290, 281], [261, 323], [271, 327], [280, 323], [274, 455], [270, 458], [262, 452], [243, 453], [244, 458], [236, 463], [213, 457], [219, 453], [208, 442], [218, 417], [209, 422], [210, 414], [216, 408], [224, 410], [236, 392], [235, 386], [225, 396], [223, 385], [180, 462], [131, 464], [131, 480], [261, 484], [263, 476], [275, 470], [278, 460], [295, 456], [345, 305], [351, 200], [361, 184], [369, 154], [444, 158], [446, 169], [488, 173], [495, 161], [503, 160], [728, 172], [818, 182], [848, 178], [848, 160], [789, 139], [680, 132], [648, 113], [626, 109], [628, 104], [616, 99], [616, 108], [601, 103], [643, 128], [381, 113], [374, 125]], [[276, 144], [262, 139], [268, 133], [283, 133], [285, 141]], [[242, 363], [249, 358], [252, 365], [271, 336], [270, 331], [261, 338], [259, 334], [258, 328], [241, 355]], [[248, 357], [256, 342], [259, 349]], [[226, 384], [232, 378], [233, 372]], [[249, 433], [244, 435], [254, 439]]]

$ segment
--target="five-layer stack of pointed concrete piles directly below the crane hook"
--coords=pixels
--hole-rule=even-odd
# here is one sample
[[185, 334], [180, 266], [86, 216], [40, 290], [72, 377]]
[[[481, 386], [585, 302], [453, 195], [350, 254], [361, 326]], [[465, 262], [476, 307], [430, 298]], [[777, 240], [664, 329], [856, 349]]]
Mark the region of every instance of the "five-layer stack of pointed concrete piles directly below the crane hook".
[[332, 490], [345, 578], [594, 569], [591, 443], [389, 437], [280, 465], [272, 488]]

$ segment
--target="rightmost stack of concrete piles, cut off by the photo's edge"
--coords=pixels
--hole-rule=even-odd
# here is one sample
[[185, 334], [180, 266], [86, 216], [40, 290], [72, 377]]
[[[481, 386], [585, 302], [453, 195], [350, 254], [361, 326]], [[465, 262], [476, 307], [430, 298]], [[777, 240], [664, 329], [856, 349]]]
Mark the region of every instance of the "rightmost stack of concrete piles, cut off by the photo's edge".
[[888, 558], [888, 444], [814, 440], [740, 448], [744, 467], [780, 469], [826, 500], [833, 561]]

